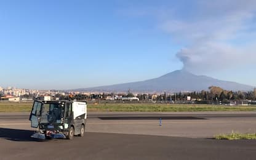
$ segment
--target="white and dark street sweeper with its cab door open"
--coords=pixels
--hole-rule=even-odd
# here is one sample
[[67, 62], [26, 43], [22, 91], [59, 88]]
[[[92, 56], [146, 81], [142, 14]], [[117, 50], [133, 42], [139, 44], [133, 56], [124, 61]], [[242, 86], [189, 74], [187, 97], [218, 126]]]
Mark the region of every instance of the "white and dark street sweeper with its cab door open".
[[68, 138], [84, 136], [87, 104], [78, 101], [35, 100], [30, 113], [31, 127], [37, 128], [33, 138]]

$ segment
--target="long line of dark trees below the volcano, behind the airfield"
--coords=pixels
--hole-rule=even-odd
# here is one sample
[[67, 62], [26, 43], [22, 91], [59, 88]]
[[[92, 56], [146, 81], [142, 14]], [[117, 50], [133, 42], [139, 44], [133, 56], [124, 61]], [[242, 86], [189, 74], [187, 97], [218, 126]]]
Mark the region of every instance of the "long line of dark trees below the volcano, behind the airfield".
[[[22, 97], [28, 98], [33, 95], [23, 95]], [[127, 94], [114, 94], [114, 93], [103, 93], [103, 94], [71, 94], [70, 95], [54, 95], [55, 98], [60, 100], [92, 100], [92, 99], [106, 99], [107, 97], [137, 97], [140, 101], [158, 101], [158, 102], [180, 102], [188, 100], [198, 103], [212, 103], [222, 102], [229, 103], [231, 100], [256, 100], [256, 89], [253, 91], [242, 92], [225, 90], [217, 86], [210, 86], [208, 90], [201, 90], [200, 92], [178, 92], [174, 94], [137, 94], [136, 96], [130, 92]]]

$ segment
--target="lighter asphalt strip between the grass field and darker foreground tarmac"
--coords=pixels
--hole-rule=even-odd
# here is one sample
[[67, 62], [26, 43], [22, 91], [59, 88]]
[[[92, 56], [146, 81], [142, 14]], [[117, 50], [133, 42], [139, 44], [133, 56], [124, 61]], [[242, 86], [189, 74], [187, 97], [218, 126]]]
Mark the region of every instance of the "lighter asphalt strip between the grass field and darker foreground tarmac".
[[[0, 113], [0, 127], [31, 130], [28, 113]], [[159, 119], [162, 126], [159, 126]], [[212, 138], [256, 132], [256, 112], [111, 113], [90, 112], [87, 132]]]

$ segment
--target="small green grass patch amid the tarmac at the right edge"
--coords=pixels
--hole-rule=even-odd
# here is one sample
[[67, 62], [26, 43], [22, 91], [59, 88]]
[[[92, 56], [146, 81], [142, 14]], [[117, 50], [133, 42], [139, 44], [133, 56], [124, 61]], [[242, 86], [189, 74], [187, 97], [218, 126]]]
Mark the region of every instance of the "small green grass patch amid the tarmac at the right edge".
[[233, 132], [231, 134], [221, 134], [214, 137], [217, 140], [256, 140], [256, 134], [239, 134]]

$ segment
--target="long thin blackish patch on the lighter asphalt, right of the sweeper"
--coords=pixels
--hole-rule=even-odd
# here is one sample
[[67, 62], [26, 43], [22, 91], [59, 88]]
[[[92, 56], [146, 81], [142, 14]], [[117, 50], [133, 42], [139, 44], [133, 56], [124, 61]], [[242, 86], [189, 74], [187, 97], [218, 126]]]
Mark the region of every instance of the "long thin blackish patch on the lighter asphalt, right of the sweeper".
[[154, 120], [154, 119], [181, 119], [181, 120], [193, 120], [193, 119], [206, 119], [206, 118], [197, 118], [197, 117], [189, 117], [189, 116], [113, 116], [113, 117], [99, 117], [102, 120]]

